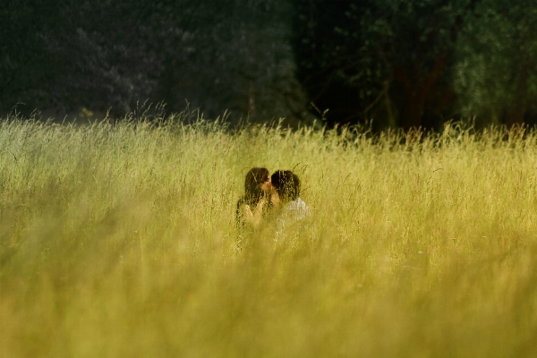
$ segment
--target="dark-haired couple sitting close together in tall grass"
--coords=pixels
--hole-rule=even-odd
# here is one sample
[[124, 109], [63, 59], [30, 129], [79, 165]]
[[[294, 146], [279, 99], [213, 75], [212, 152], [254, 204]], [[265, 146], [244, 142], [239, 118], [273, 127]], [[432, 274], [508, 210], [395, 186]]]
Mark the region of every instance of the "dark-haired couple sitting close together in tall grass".
[[260, 226], [265, 217], [273, 214], [285, 225], [286, 219], [302, 220], [311, 211], [300, 199], [300, 179], [290, 170], [277, 170], [270, 175], [267, 168], [251, 168], [244, 180], [244, 192], [237, 202], [239, 226]]

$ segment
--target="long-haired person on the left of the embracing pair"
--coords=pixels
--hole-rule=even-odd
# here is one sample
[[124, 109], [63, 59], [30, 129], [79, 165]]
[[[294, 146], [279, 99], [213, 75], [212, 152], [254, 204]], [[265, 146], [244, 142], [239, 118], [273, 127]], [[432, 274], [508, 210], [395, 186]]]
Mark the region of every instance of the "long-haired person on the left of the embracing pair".
[[261, 218], [272, 206], [270, 194], [274, 191], [267, 168], [253, 167], [244, 178], [244, 195], [237, 201], [238, 226], [259, 226]]

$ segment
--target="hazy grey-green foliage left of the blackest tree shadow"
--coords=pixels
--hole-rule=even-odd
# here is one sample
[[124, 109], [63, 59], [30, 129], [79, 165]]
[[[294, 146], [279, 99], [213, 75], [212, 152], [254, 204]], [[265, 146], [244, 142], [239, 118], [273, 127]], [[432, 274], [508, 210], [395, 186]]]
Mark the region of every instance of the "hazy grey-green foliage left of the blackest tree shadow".
[[304, 120], [288, 11], [278, 4], [9, 0], [0, 11], [0, 110], [122, 115], [148, 98], [172, 111], [186, 99], [209, 116]]

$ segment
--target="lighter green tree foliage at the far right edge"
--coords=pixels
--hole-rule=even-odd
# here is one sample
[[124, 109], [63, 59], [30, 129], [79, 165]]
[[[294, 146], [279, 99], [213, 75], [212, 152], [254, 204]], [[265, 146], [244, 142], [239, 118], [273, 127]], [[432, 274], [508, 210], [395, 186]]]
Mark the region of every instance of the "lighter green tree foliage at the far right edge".
[[535, 124], [537, 5], [487, 0], [469, 14], [457, 48], [456, 90], [465, 115]]

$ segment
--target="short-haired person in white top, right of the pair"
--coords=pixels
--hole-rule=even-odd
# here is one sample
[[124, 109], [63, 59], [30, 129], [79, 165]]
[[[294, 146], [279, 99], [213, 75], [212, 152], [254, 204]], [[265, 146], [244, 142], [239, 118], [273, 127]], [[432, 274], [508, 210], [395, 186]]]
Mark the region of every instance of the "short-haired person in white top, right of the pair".
[[285, 217], [302, 220], [310, 215], [310, 208], [300, 198], [301, 183], [298, 175], [290, 170], [277, 170], [270, 176], [270, 180], [275, 190], [272, 204], [283, 210], [280, 216], [282, 224], [285, 223]]

